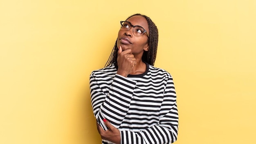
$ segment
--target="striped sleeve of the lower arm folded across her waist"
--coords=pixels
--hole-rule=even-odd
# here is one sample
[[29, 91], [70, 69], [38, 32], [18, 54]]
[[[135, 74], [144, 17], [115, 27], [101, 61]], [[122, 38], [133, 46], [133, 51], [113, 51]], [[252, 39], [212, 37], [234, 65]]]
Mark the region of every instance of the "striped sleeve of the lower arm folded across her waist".
[[167, 80], [159, 124], [143, 131], [120, 131], [121, 144], [171, 144], [177, 140], [178, 111], [173, 79]]

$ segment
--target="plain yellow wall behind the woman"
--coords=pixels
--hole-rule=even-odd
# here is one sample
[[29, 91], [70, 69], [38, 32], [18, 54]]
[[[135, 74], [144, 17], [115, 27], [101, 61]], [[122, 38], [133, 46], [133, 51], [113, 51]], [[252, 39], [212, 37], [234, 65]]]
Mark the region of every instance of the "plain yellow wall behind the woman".
[[1, 0], [0, 144], [99, 144], [89, 75], [134, 13], [159, 29], [175, 144], [256, 144], [255, 0]]

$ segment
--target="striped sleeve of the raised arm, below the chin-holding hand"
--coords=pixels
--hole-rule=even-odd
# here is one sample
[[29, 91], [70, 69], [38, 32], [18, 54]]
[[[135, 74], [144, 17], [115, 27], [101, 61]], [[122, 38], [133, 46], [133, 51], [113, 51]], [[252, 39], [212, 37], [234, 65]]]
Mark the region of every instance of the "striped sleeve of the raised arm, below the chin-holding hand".
[[[113, 126], [119, 128], [129, 107], [136, 82], [116, 74], [108, 93], [102, 91], [102, 87], [110, 85], [105, 80], [99, 80], [92, 72], [90, 75], [90, 93], [94, 116], [104, 130], [103, 119], [107, 119]], [[100, 87], [101, 84], [101, 87]]]

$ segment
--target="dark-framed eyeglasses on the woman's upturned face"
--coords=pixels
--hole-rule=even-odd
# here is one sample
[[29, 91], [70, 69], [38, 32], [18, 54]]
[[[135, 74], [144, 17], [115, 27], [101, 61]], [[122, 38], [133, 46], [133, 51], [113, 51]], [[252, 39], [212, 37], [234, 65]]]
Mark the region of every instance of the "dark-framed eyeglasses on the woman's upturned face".
[[[134, 26], [128, 21], [120, 21], [120, 23], [121, 23], [121, 30], [123, 31], [128, 31], [131, 27], [133, 27], [132, 33], [134, 35], [141, 36], [143, 35], [143, 33], [146, 33], [148, 35], [147, 31], [141, 26]], [[149, 38], [149, 35], [148, 35], [148, 38]]]

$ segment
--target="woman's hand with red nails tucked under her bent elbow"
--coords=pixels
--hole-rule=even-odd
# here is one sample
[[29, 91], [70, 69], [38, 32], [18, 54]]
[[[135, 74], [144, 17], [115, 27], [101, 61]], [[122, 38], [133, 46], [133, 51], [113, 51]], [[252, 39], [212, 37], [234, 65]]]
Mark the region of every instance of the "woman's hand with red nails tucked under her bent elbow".
[[114, 142], [116, 144], [120, 144], [120, 141], [121, 141], [120, 131], [117, 128], [115, 128], [115, 126], [112, 126], [112, 124], [110, 124], [110, 122], [108, 122], [107, 120], [104, 122], [104, 124], [108, 127], [107, 131], [105, 131], [97, 123], [97, 129], [98, 129], [99, 134], [101, 135], [101, 139], [108, 140], [108, 141]]

